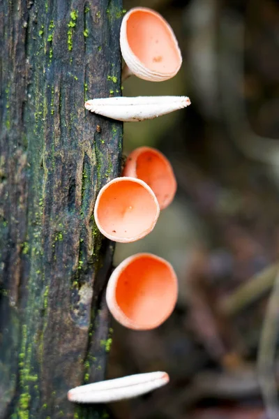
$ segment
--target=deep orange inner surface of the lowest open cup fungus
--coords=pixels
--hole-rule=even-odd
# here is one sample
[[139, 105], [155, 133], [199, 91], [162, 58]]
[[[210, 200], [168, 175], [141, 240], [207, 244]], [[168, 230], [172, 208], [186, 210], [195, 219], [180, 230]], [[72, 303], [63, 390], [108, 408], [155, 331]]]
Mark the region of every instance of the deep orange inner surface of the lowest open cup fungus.
[[148, 256], [137, 258], [119, 276], [116, 302], [133, 324], [156, 327], [174, 308], [176, 279], [160, 260]]

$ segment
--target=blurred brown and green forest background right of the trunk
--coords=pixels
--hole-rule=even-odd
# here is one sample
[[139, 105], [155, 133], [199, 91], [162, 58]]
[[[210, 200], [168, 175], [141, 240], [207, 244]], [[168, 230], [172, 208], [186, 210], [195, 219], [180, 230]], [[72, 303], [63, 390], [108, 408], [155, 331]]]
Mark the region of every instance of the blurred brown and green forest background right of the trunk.
[[124, 1], [134, 6], [172, 25], [183, 67], [168, 82], [130, 78], [123, 95], [186, 95], [192, 105], [124, 126], [124, 153], [160, 149], [179, 187], [153, 233], [117, 244], [114, 263], [138, 251], [163, 256], [178, 274], [179, 302], [153, 331], [113, 323], [109, 377], [162, 370], [170, 383], [112, 411], [279, 418], [279, 1]]

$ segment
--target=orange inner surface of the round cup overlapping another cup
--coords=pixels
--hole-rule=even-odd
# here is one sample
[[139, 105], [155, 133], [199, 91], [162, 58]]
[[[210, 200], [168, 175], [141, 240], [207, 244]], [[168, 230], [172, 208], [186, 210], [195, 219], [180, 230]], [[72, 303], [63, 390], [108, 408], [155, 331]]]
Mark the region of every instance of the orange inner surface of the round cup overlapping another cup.
[[157, 206], [144, 186], [122, 180], [103, 191], [97, 214], [100, 226], [108, 234], [130, 239], [153, 227]]

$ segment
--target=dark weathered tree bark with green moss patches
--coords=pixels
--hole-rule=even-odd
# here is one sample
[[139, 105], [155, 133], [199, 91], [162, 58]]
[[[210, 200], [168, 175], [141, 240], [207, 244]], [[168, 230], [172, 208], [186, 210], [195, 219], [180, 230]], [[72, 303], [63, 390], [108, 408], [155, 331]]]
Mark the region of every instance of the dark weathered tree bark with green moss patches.
[[96, 195], [119, 175], [121, 0], [0, 0], [0, 418], [108, 417], [67, 400], [104, 378], [114, 244]]

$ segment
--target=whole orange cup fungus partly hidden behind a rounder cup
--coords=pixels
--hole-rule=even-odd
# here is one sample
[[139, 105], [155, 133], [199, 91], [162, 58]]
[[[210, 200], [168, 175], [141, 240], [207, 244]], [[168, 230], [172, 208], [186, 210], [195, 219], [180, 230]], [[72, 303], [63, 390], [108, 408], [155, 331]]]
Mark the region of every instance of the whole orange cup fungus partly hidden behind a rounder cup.
[[176, 193], [176, 179], [167, 158], [157, 149], [138, 147], [127, 157], [123, 176], [136, 177], [155, 193], [160, 210], [166, 208]]

